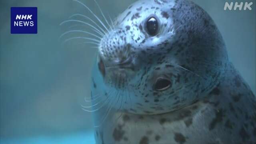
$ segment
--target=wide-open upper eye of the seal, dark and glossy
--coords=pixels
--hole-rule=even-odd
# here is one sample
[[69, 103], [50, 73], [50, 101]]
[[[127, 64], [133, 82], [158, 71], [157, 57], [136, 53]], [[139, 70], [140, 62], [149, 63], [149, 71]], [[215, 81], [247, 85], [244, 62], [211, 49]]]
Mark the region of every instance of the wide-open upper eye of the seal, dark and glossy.
[[158, 32], [158, 21], [154, 17], [150, 17], [146, 22], [146, 29], [150, 36], [155, 36]]

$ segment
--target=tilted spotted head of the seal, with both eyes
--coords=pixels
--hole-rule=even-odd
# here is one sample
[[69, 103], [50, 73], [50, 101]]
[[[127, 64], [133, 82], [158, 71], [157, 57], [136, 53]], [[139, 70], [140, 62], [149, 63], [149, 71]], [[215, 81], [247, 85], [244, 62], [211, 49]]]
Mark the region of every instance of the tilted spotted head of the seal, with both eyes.
[[135, 114], [171, 112], [204, 98], [227, 62], [213, 20], [187, 0], [132, 4], [102, 38], [98, 56], [104, 83], [128, 92], [123, 110]]

